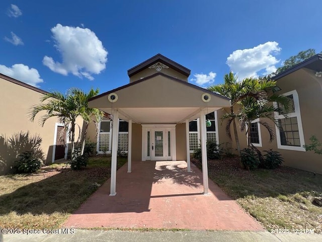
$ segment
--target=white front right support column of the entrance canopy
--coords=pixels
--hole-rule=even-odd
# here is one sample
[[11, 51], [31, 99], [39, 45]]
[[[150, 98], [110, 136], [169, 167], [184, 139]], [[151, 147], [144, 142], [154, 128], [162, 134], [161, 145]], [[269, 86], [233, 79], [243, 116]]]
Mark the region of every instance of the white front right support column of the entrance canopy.
[[207, 129], [204, 110], [200, 112], [200, 139], [202, 158], [203, 193], [208, 194], [208, 162], [207, 162]]

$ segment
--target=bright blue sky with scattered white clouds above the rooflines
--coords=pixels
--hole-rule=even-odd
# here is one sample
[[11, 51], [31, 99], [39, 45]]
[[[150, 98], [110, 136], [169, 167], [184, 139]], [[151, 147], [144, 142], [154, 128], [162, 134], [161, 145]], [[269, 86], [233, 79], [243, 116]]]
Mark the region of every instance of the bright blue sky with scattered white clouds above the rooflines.
[[320, 0], [0, 2], [0, 73], [46, 91], [105, 92], [161, 53], [207, 87], [322, 50]]

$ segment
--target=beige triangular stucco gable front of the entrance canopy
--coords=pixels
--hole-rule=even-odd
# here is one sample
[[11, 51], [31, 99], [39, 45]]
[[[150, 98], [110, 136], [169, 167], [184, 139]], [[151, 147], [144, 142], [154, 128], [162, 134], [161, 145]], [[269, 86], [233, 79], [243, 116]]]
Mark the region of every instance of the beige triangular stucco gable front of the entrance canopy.
[[[117, 107], [206, 107], [201, 96], [205, 91], [191, 88], [184, 82], [174, 81], [164, 76], [155, 76], [135, 85], [116, 91], [118, 100], [113, 103]], [[208, 106], [224, 107], [229, 100], [220, 96], [212, 96]], [[90, 107], [107, 107], [111, 103], [107, 97], [101, 96], [90, 102]]]

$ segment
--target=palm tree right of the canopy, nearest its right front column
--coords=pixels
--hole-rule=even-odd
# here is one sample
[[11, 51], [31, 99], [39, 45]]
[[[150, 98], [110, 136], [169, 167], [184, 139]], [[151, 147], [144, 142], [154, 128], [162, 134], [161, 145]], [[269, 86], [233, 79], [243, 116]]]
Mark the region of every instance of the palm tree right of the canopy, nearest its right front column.
[[272, 80], [259, 81], [255, 78], [246, 78], [240, 82], [237, 81], [237, 77], [230, 72], [225, 74], [224, 83], [210, 86], [207, 89], [212, 92], [219, 93], [225, 97], [230, 98], [230, 112], [223, 115], [222, 119], [227, 119], [226, 133], [231, 139], [230, 126], [232, 124], [234, 138], [239, 157], [241, 156], [239, 139], [237, 134], [236, 118], [236, 106], [242, 105], [242, 101], [249, 97], [256, 100], [259, 106], [264, 106], [268, 102], [267, 90], [276, 86], [276, 82]]

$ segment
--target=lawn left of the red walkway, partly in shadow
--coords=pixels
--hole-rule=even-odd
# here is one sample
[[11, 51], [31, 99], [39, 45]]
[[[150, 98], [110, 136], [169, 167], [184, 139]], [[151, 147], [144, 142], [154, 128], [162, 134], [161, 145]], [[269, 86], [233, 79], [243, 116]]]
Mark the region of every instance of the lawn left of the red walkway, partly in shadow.
[[[126, 162], [118, 158], [117, 168]], [[0, 176], [0, 224], [55, 229], [110, 177], [110, 156], [91, 157], [85, 169], [52, 164], [35, 174]], [[108, 191], [107, 191], [108, 192]]]

